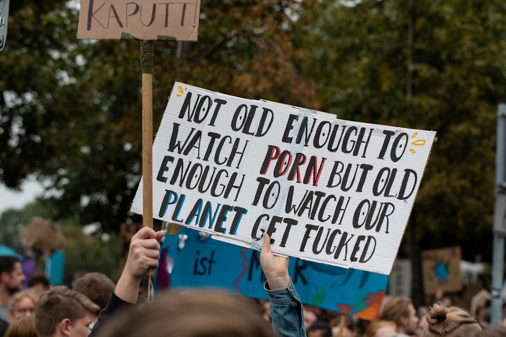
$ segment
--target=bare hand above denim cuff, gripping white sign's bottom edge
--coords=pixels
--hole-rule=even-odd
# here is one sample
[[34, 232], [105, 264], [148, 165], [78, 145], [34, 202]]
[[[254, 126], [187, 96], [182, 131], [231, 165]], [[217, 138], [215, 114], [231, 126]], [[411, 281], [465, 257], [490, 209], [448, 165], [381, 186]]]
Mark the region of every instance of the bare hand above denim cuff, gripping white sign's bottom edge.
[[271, 290], [287, 288], [290, 285], [287, 257], [277, 256], [271, 252], [271, 238], [264, 233], [264, 244], [260, 253], [260, 264]]

